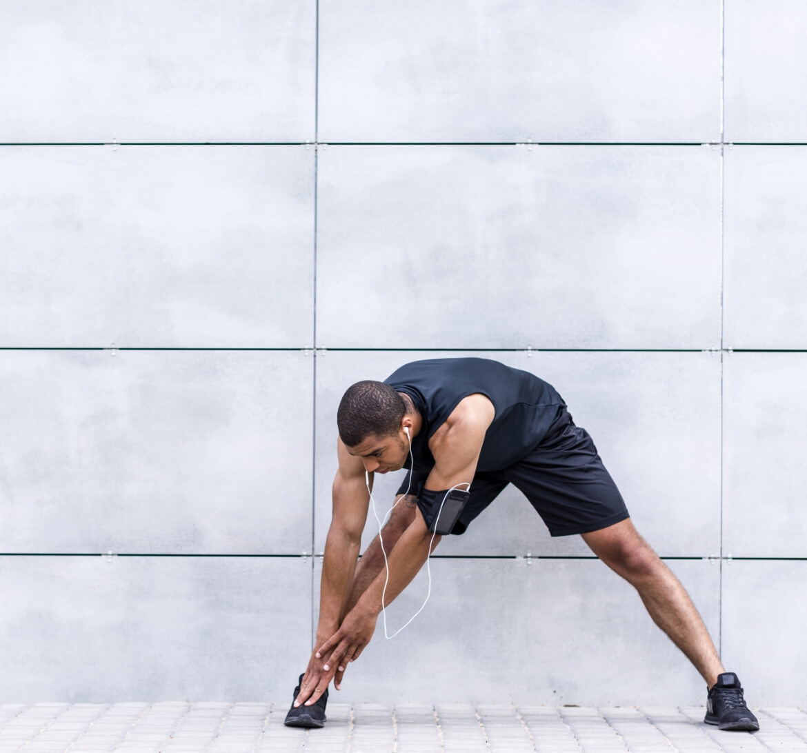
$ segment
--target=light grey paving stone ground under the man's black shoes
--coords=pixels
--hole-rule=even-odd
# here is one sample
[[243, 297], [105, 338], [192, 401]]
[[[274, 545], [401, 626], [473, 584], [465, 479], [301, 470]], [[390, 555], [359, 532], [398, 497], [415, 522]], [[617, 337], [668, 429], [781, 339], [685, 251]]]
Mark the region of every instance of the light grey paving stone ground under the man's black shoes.
[[0, 705], [0, 753], [754, 753], [805, 751], [807, 711], [757, 709], [756, 734], [703, 723], [702, 706], [328, 705], [322, 730], [267, 703]]

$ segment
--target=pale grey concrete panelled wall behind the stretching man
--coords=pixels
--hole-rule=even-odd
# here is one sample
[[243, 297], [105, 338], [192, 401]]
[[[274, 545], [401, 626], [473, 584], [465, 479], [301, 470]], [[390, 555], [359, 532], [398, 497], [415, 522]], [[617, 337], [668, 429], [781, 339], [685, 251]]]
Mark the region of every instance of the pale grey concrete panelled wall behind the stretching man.
[[[4, 2], [0, 700], [285, 702], [342, 391], [473, 352], [558, 387], [751, 703], [803, 704], [805, 37], [799, 0]], [[704, 701], [517, 492], [439, 554], [345, 701]]]

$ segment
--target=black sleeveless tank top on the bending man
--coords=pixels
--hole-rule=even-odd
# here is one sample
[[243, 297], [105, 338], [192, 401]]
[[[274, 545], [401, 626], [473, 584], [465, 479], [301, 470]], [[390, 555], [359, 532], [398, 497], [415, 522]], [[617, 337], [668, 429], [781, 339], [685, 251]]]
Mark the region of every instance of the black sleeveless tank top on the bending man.
[[[477, 471], [501, 471], [535, 449], [565, 406], [549, 383], [487, 358], [434, 358], [401, 366], [385, 383], [412, 398], [423, 426], [412, 441], [416, 471], [430, 471], [429, 439], [462, 398], [479, 393], [495, 408]], [[407, 458], [406, 467], [410, 461]]]

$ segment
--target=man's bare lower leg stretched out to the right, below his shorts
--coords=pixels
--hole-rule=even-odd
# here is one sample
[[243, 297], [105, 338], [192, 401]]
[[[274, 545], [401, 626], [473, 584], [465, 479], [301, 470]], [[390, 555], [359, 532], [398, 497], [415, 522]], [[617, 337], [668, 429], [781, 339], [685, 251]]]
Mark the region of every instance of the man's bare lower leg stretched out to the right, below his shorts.
[[711, 688], [725, 671], [709, 631], [679, 579], [628, 519], [583, 540], [608, 567], [639, 593], [653, 621], [669, 636]]

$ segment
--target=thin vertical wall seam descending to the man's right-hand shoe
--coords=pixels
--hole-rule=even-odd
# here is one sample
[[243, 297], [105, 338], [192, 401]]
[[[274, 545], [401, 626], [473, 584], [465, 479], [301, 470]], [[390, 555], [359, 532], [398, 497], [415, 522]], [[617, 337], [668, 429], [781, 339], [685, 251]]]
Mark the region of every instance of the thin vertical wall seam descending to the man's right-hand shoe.
[[720, 2], [720, 571], [717, 621], [717, 653], [723, 654], [723, 375], [725, 370], [724, 328], [725, 290], [725, 0]]

